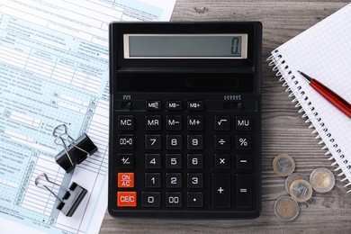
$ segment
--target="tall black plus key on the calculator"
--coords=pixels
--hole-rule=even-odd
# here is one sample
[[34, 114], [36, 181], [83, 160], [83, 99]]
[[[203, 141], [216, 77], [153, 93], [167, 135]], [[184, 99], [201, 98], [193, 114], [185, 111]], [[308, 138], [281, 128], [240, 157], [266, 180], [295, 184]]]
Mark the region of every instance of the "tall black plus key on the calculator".
[[211, 206], [230, 207], [230, 174], [211, 175]]

